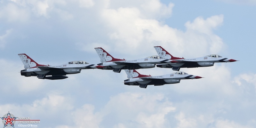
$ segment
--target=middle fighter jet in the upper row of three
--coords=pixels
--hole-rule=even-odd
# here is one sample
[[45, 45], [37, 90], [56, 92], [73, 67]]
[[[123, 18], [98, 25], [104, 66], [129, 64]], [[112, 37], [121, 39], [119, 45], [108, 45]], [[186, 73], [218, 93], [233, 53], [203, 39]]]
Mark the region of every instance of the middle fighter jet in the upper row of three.
[[162, 63], [176, 63], [170, 59], [164, 59], [159, 56], [150, 56], [137, 60], [122, 60], [112, 57], [103, 48], [94, 48], [100, 57], [100, 66], [104, 66], [103, 69], [113, 70], [113, 72], [120, 73], [122, 69], [140, 69], [140, 68], [154, 68], [156, 64]]

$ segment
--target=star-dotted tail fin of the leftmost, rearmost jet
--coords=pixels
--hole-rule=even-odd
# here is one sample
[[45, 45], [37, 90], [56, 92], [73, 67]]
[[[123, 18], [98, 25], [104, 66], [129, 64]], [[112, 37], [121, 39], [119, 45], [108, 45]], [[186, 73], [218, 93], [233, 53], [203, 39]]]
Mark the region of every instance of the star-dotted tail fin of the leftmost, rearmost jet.
[[31, 59], [28, 55], [26, 54], [18, 54], [20, 56], [20, 60], [24, 64], [24, 68], [34, 68], [37, 66], [47, 66], [47, 65], [41, 65], [36, 63], [35, 60]]

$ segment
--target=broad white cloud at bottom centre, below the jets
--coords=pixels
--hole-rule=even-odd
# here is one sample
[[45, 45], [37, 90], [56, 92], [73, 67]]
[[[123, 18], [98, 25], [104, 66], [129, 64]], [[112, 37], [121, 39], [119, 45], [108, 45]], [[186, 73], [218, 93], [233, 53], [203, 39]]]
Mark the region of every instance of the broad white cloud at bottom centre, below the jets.
[[172, 103], [162, 94], [124, 92], [111, 97], [100, 111], [95, 111], [94, 106], [90, 104], [77, 108], [72, 112], [75, 125], [64, 127], [161, 128], [168, 122], [165, 115], [173, 111], [175, 107], [172, 107]]

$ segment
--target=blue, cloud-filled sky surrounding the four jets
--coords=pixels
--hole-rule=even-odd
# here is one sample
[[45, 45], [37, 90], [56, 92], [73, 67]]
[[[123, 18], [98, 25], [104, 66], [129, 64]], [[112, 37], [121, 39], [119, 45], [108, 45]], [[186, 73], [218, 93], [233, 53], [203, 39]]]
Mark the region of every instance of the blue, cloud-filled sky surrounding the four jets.
[[[40, 128], [253, 128], [255, 6], [255, 0], [0, 0], [0, 115], [40, 120]], [[147, 89], [124, 85], [124, 71], [84, 69], [63, 80], [20, 75], [21, 53], [44, 65], [98, 64], [96, 47], [133, 60], [157, 55], [154, 46], [175, 57], [239, 61], [182, 68], [204, 78]]]

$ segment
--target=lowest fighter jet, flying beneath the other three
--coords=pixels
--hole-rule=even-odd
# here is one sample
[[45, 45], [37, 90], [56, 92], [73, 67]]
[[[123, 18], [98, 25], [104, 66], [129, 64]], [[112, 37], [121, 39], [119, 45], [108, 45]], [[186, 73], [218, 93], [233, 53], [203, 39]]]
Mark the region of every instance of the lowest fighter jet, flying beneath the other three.
[[164, 84], [180, 83], [183, 79], [199, 79], [200, 76], [189, 75], [185, 72], [175, 72], [162, 76], [147, 76], [141, 75], [136, 70], [125, 70], [127, 80], [124, 80], [125, 85], [138, 85], [141, 88], [147, 88], [148, 85], [160, 86]]

